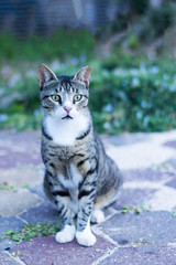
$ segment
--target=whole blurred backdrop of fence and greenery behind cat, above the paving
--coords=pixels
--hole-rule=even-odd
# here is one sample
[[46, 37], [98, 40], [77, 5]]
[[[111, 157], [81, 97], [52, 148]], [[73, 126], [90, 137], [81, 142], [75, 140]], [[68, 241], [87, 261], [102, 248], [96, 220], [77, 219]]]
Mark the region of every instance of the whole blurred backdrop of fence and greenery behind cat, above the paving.
[[92, 67], [100, 134], [176, 128], [176, 3], [0, 0], [0, 128], [41, 127], [36, 71]]

